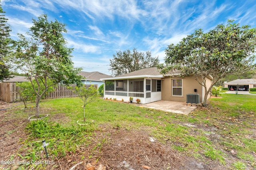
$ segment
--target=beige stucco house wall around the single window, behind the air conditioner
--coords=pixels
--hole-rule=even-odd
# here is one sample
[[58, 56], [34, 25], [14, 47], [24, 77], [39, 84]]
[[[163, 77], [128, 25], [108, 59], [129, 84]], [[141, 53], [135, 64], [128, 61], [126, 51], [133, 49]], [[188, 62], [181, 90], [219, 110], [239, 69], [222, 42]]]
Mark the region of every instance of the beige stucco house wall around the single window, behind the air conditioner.
[[[206, 86], [210, 86], [211, 80], [208, 79]], [[194, 89], [197, 92], [194, 92]], [[162, 80], [162, 100], [186, 102], [186, 94], [199, 94], [200, 102], [202, 102], [203, 87], [193, 77], [185, 77], [182, 79], [182, 96], [172, 96], [172, 79], [165, 77]], [[208, 96], [209, 98], [210, 96]]]

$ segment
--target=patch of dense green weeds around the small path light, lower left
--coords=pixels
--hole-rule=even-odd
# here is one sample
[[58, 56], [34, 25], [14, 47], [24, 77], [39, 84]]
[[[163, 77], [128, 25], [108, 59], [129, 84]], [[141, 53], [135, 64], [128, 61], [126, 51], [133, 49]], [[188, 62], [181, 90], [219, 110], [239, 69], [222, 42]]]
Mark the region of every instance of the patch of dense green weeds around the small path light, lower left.
[[[28, 147], [26, 154], [18, 153], [22, 160], [42, 160], [45, 154], [42, 152], [42, 140], [48, 143], [47, 149], [50, 155], [58, 158], [66, 156], [67, 152], [76, 153], [77, 146], [90, 144], [90, 136], [95, 130], [94, 126], [74, 126], [64, 127], [59, 123], [48, 122], [48, 119], [31, 121], [26, 126], [30, 134], [24, 141], [24, 147]], [[23, 155], [22, 155], [23, 154]], [[28, 164], [24, 166], [29, 166]]]

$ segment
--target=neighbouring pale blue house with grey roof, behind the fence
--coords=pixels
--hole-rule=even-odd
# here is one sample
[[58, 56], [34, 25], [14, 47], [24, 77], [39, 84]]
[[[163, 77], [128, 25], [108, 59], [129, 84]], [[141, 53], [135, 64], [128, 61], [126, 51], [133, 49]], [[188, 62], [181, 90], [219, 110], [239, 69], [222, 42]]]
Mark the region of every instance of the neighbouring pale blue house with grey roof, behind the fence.
[[82, 83], [83, 84], [98, 84], [98, 87], [100, 87], [102, 84], [104, 84], [104, 81], [101, 80], [102, 78], [112, 78], [113, 76], [98, 72], [98, 71], [94, 71], [94, 72], [85, 72], [85, 71], [81, 71], [80, 74], [84, 77], [84, 79], [82, 79]]

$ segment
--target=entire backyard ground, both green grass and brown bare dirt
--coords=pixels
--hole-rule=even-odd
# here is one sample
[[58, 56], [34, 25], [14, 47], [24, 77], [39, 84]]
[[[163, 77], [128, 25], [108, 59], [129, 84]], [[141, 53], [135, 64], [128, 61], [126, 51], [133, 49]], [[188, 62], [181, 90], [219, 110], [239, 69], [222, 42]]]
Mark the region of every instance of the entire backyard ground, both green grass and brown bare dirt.
[[34, 104], [0, 111], [1, 169], [68, 170], [81, 161], [102, 170], [256, 169], [256, 95], [222, 94], [188, 116], [99, 99], [86, 106], [94, 122], [84, 126], [79, 98], [42, 100], [49, 117], [29, 122]]

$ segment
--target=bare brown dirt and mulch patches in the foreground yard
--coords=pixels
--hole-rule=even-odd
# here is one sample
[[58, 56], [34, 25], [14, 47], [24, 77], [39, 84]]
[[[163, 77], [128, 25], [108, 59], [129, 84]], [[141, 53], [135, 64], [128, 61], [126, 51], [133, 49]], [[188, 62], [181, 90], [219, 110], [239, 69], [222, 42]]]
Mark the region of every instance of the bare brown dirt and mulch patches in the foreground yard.
[[[0, 104], [0, 160], [10, 160], [11, 157], [17, 160], [17, 151], [22, 147], [22, 141], [27, 136], [25, 126], [28, 120], [26, 117], [15, 119], [14, 115], [4, 114], [6, 110], [3, 109], [12, 106], [13, 104]], [[58, 116], [62, 117], [62, 115]], [[69, 170], [84, 157], [87, 159], [84, 159], [83, 163], [73, 170], [226, 169], [217, 161], [208, 158], [202, 161], [172, 150], [170, 145], [173, 143], [167, 142], [164, 145], [150, 137], [146, 129], [143, 128], [128, 131], [125, 128], [102, 125], [100, 129], [95, 133], [95, 142], [92, 145], [79, 146], [75, 154], [68, 152], [64, 158], [58, 159], [50, 156], [55, 163], [49, 164], [46, 168], [49, 170]], [[106, 141], [102, 145], [98, 145], [98, 141], [102, 141], [102, 139], [106, 139]], [[1, 168], [15, 170], [18, 166], [0, 164]]]

